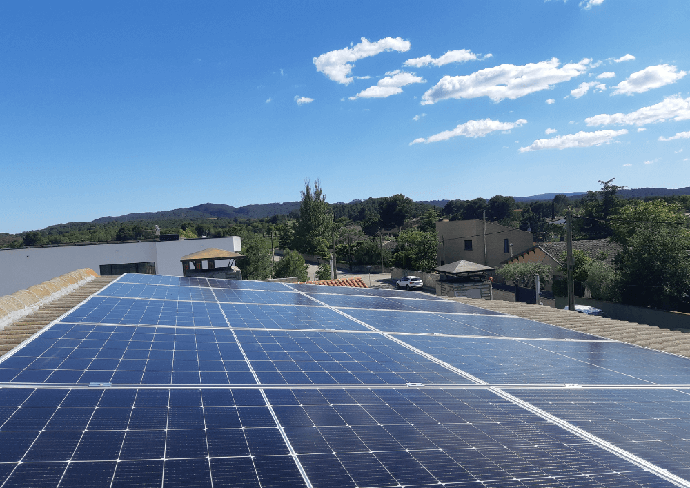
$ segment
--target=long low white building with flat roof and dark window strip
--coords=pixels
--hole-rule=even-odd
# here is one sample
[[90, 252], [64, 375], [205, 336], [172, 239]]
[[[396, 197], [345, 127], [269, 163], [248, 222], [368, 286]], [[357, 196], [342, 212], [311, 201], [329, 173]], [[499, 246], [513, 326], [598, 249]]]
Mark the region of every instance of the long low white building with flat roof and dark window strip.
[[[202, 237], [179, 241], [79, 242], [19, 249], [0, 249], [0, 296], [90, 268], [99, 275], [148, 273], [181, 276], [180, 258], [207, 248], [242, 252], [239, 237]], [[228, 266], [217, 262], [216, 266]]]

